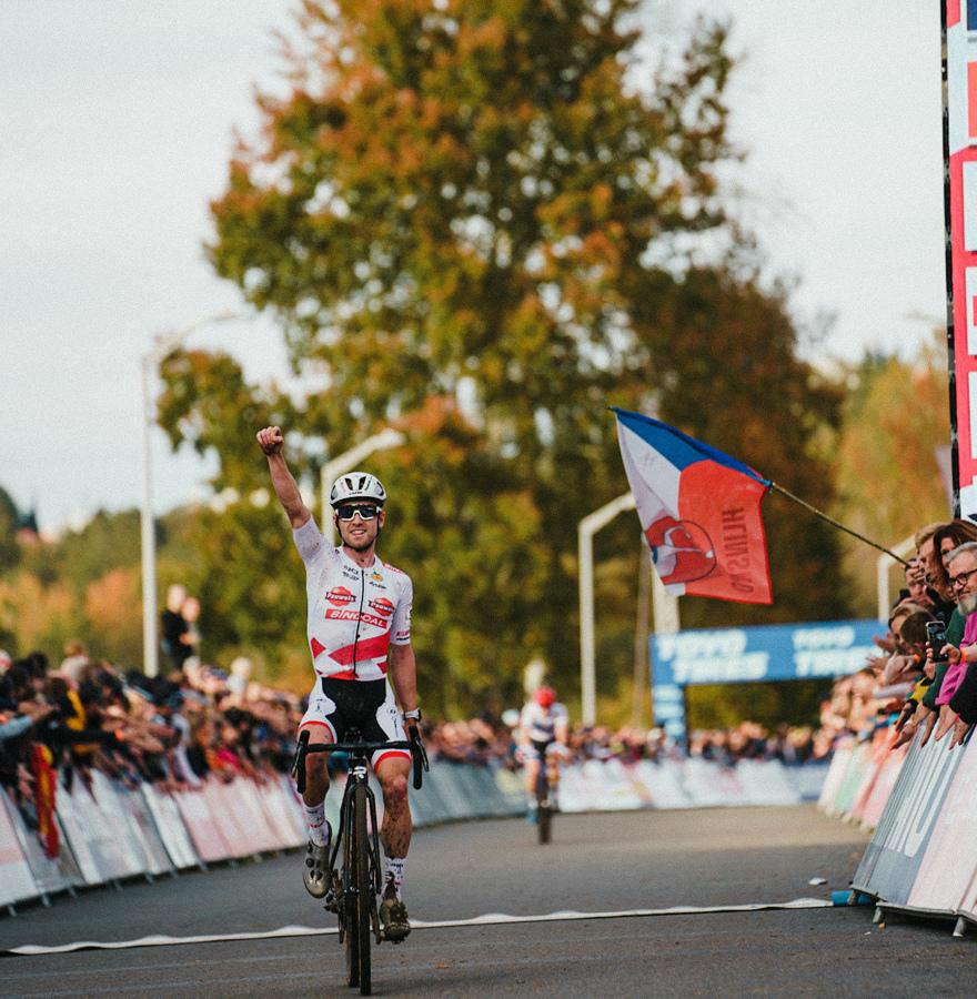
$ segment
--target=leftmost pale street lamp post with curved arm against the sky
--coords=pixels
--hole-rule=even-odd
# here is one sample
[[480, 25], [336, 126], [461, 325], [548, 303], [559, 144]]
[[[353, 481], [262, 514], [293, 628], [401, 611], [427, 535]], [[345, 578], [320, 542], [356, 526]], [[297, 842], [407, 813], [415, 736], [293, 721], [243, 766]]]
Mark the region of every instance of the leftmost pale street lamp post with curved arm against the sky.
[[153, 346], [140, 359], [142, 369], [142, 507], [140, 509], [142, 558], [142, 672], [155, 676], [159, 672], [157, 636], [157, 538], [152, 503], [152, 428], [155, 425], [153, 400], [154, 375], [159, 363], [177, 350], [191, 333], [201, 326], [243, 319], [236, 312], [219, 312], [204, 316], [182, 330], [159, 333]]

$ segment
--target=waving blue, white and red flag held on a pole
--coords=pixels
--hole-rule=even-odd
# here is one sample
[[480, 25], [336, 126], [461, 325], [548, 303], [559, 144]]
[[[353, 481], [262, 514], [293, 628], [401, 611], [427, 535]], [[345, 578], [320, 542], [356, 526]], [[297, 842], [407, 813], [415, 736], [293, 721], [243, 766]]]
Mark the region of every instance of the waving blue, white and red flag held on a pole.
[[773, 603], [761, 516], [769, 480], [667, 423], [612, 408], [637, 515], [666, 589]]

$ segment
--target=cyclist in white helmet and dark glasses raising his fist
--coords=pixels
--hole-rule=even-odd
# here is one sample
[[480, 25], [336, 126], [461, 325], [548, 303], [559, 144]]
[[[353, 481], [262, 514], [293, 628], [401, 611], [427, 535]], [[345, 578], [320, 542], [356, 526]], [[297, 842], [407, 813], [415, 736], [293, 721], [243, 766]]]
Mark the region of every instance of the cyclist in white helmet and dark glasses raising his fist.
[[[332, 547], [289, 471], [281, 428], [259, 431], [258, 443], [268, 457], [272, 486], [305, 563], [306, 634], [315, 686], [299, 731], [311, 731], [312, 741], [342, 741], [349, 728], [355, 727], [367, 741], [403, 740], [403, 725], [415, 726], [421, 719], [411, 647], [413, 586], [410, 576], [376, 556], [386, 491], [366, 472], [350, 472], [335, 481], [329, 502], [342, 544]], [[375, 753], [371, 763], [384, 805], [380, 839], [386, 866], [380, 918], [386, 938], [400, 941], [411, 931], [402, 898], [412, 830], [407, 804], [411, 755], [406, 749], [391, 749]], [[303, 796], [309, 825], [303, 879], [313, 898], [323, 898], [328, 890], [332, 830], [325, 819], [326, 790], [326, 759], [323, 754], [312, 754], [306, 760]]]

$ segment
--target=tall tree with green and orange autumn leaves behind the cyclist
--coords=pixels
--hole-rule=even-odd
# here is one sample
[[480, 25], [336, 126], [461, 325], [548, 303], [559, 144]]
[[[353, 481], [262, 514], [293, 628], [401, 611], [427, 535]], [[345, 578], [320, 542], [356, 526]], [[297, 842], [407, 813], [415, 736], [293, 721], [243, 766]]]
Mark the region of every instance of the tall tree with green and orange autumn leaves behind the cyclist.
[[[384, 553], [439, 579], [442, 593], [417, 587], [416, 620], [422, 660], [443, 666], [427, 675], [447, 678], [425, 696], [445, 706], [517, 696], [536, 650], [575, 677], [575, 526], [626, 487], [610, 402], [722, 432], [738, 453], [743, 424], [759, 467], [778, 451], [817, 458], [829, 400], [794, 357], [783, 302], [755, 272], [706, 263], [738, 242], [717, 180], [726, 30], [699, 23], [648, 70], [637, 7], [303, 2], [290, 91], [260, 97], [209, 252], [279, 317], [310, 393], [250, 390], [224, 357], [164, 365], [162, 422], [219, 453], [219, 484], [256, 487], [259, 417], [290, 417], [313, 474], [320, 442], [336, 454], [391, 422], [409, 433], [372, 465], [394, 496]], [[805, 571], [820, 565], [816, 531], [792, 538]], [[794, 592], [806, 610], [819, 591]]]

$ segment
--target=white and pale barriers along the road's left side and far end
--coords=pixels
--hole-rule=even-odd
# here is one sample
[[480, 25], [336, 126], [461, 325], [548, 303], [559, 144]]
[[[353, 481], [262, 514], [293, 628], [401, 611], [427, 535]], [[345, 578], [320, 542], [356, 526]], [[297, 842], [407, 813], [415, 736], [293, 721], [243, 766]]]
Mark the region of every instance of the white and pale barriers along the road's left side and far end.
[[[804, 770], [775, 761], [722, 767], [704, 760], [588, 760], [564, 768], [560, 804], [576, 813], [794, 804], [819, 790], [826, 768], [808, 768], [800, 779]], [[345, 777], [336, 775], [326, 799], [333, 827], [344, 786]], [[375, 781], [373, 789], [382, 821]], [[90, 786], [75, 777], [69, 791], [59, 781], [61, 854], [56, 860], [44, 855], [13, 803], [3, 794], [0, 798], [0, 905], [8, 907], [79, 886], [301, 847], [306, 838], [294, 784], [284, 774], [261, 783], [210, 776], [198, 788], [173, 794], [153, 785], [128, 788], [98, 770]], [[526, 807], [524, 776], [435, 761], [422, 790], [411, 790], [411, 807], [417, 827], [518, 815]]]

